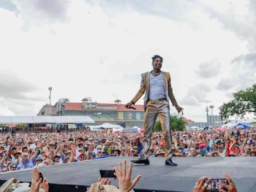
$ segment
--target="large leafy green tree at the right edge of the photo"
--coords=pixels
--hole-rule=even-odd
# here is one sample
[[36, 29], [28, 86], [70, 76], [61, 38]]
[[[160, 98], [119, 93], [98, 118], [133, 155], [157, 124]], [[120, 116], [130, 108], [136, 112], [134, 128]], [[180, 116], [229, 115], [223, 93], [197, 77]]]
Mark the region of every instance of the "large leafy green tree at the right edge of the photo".
[[256, 113], [256, 84], [245, 90], [239, 90], [233, 93], [233, 99], [223, 103], [218, 109], [220, 116], [228, 120], [230, 116], [239, 116], [243, 118], [247, 112]]

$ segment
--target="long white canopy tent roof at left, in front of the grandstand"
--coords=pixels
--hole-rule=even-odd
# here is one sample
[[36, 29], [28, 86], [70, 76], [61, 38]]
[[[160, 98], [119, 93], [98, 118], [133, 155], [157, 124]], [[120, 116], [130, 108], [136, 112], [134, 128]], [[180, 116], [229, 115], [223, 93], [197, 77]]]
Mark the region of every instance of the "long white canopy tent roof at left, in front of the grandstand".
[[89, 116], [0, 116], [0, 124], [94, 123]]

